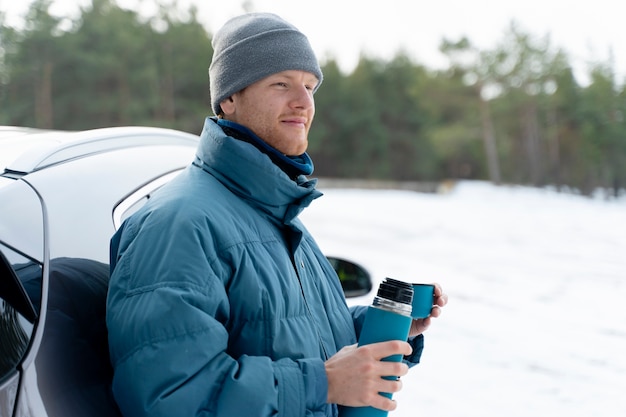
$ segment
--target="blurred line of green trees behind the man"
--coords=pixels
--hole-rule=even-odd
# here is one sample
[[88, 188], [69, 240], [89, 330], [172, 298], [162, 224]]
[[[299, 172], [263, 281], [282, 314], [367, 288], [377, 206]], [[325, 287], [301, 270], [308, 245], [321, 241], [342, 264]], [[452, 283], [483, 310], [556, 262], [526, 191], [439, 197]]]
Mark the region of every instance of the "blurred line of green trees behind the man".
[[[194, 7], [150, 18], [92, 0], [75, 19], [35, 0], [17, 29], [0, 14], [0, 124], [79, 130], [150, 125], [199, 133], [211, 115], [211, 33]], [[480, 50], [443, 39], [449, 68], [398, 51], [353, 71], [322, 63], [309, 153], [320, 177], [485, 179], [582, 194], [626, 189], [626, 88], [596, 63], [581, 85], [548, 37], [511, 23]]]

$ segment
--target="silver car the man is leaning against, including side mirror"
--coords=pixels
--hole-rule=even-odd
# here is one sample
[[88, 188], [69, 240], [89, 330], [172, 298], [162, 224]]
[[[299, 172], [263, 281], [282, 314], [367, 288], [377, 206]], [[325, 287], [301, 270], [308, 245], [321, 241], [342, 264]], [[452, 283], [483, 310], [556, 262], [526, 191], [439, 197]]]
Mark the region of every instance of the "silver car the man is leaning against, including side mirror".
[[[0, 417], [119, 415], [104, 318], [109, 240], [198, 141], [147, 127], [0, 128]], [[365, 270], [331, 262], [347, 296], [371, 290]]]

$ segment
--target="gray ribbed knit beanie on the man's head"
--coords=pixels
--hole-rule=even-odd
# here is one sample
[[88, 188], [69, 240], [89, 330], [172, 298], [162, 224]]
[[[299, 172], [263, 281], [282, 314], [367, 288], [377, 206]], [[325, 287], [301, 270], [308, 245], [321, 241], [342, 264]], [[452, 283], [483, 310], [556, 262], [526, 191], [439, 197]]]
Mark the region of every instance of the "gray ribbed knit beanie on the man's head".
[[322, 70], [306, 36], [272, 13], [248, 13], [230, 19], [213, 36], [209, 66], [211, 108], [269, 75], [287, 70], [314, 74], [322, 83]]

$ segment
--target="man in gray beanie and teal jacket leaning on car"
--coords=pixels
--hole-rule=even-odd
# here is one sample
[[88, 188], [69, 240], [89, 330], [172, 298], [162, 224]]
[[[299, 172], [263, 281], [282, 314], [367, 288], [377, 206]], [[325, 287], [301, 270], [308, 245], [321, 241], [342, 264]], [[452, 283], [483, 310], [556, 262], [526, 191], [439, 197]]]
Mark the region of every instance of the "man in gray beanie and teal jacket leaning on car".
[[[306, 175], [322, 72], [307, 38], [273, 14], [213, 39], [211, 106], [195, 161], [111, 241], [113, 392], [128, 416], [336, 416], [391, 410], [422, 349], [356, 348], [336, 273], [298, 220], [321, 193]], [[446, 296], [437, 287], [437, 303]], [[439, 309], [433, 309], [433, 316]], [[392, 354], [407, 363], [381, 362]]]

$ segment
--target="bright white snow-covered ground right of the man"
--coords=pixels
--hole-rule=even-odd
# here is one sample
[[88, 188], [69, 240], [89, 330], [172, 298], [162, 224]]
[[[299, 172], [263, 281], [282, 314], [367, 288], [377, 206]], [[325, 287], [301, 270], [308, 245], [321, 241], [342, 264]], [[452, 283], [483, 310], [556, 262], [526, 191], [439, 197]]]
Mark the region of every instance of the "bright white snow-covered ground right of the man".
[[328, 255], [450, 297], [390, 417], [626, 415], [626, 200], [322, 191], [301, 218]]

